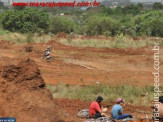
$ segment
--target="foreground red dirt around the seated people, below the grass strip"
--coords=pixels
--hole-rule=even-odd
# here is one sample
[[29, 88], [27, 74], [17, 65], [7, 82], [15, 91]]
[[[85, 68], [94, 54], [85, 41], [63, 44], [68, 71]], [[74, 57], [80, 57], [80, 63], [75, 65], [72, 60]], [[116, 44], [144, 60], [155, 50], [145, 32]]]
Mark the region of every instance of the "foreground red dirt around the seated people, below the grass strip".
[[[54, 102], [62, 109], [65, 109], [74, 119], [76, 122], [82, 122], [84, 120], [86, 120], [85, 118], [79, 118], [77, 117], [77, 112], [83, 109], [87, 109], [89, 107], [89, 105], [91, 104], [91, 101], [80, 101], [80, 100], [69, 100], [69, 99], [55, 99]], [[102, 106], [108, 106], [109, 105], [109, 111], [108, 111], [108, 115], [110, 115], [111, 112], [111, 108], [115, 103], [102, 103]], [[139, 110], [140, 112], [137, 113], [135, 110]], [[138, 121], [142, 121], [145, 120], [145, 113], [143, 112], [151, 112], [152, 113], [152, 109], [151, 108], [147, 108], [147, 107], [143, 107], [143, 106], [132, 106], [132, 105], [128, 105], [126, 104], [126, 106], [124, 107], [123, 112], [124, 113], [130, 113], [134, 116], [134, 118], [139, 118]], [[148, 114], [149, 117], [152, 117], [151, 114]], [[137, 122], [138, 122], [137, 121]], [[146, 122], [146, 121], [144, 121]]]

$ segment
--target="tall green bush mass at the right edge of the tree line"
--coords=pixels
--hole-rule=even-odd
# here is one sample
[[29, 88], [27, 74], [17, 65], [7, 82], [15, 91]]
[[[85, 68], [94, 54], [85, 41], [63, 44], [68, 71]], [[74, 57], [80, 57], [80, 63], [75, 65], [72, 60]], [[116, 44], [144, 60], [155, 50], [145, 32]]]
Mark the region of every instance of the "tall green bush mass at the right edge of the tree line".
[[162, 11], [149, 11], [131, 19], [128, 19], [128, 17], [122, 18], [120, 31], [131, 36], [163, 37], [162, 20]]

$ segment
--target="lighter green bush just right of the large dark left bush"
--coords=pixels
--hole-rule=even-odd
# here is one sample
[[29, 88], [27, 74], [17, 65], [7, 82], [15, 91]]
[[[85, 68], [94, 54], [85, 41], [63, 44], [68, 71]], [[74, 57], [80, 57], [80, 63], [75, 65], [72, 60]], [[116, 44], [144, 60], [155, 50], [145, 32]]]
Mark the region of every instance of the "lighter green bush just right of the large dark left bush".
[[73, 21], [62, 17], [54, 17], [51, 19], [49, 31], [53, 34], [58, 32], [71, 33], [74, 28], [75, 23]]

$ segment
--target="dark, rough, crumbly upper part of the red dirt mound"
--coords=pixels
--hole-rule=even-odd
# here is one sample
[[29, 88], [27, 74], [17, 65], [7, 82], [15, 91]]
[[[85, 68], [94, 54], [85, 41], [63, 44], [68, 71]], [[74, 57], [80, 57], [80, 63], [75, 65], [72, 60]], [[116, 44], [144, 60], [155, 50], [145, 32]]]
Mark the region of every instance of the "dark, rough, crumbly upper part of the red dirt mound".
[[1, 74], [4, 79], [14, 84], [32, 89], [45, 87], [44, 80], [37, 68], [37, 64], [30, 59], [23, 59], [18, 66], [4, 66]]

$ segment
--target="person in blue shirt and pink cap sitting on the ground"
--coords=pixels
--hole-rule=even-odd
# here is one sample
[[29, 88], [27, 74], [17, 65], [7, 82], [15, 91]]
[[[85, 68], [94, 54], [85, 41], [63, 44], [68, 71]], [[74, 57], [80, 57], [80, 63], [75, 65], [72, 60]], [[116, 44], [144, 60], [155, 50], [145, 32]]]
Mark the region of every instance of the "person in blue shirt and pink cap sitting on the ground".
[[111, 116], [113, 119], [120, 120], [125, 118], [133, 118], [130, 114], [122, 114], [122, 109], [124, 104], [124, 100], [122, 98], [117, 99], [117, 104], [115, 104], [111, 110]]

